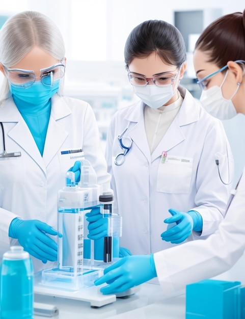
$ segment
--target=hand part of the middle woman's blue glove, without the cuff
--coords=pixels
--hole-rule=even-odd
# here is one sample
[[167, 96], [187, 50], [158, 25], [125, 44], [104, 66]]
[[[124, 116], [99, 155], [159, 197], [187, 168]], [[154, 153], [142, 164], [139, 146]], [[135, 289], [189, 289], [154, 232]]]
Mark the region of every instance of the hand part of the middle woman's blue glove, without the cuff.
[[172, 217], [164, 220], [165, 223], [176, 223], [172, 228], [161, 233], [161, 239], [172, 244], [179, 244], [192, 234], [194, 222], [193, 218], [187, 213], [175, 209], [169, 209]]

